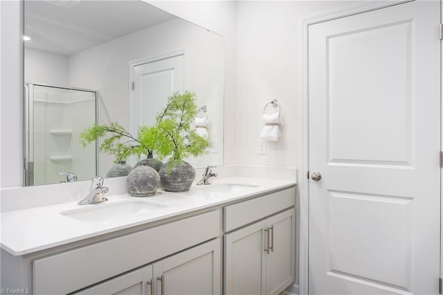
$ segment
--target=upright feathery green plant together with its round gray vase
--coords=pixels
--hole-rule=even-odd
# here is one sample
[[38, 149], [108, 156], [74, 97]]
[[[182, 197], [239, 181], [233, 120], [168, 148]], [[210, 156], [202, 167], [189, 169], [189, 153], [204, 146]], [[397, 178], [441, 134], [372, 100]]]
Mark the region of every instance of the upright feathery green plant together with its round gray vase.
[[210, 143], [191, 127], [198, 112], [195, 93], [174, 93], [165, 109], [156, 116], [160, 136], [156, 142], [159, 157], [170, 156], [159, 171], [163, 189], [170, 192], [188, 191], [195, 179], [195, 170], [183, 161], [208, 152]]

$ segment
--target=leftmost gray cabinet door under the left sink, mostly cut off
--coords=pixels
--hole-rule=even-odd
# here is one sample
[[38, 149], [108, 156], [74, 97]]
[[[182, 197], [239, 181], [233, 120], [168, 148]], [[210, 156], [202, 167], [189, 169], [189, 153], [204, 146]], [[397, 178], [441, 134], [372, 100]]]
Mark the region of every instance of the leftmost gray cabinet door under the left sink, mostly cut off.
[[144, 267], [143, 269], [137, 269], [136, 271], [131, 271], [128, 274], [118, 276], [111, 280], [107, 280], [104, 283], [100, 283], [94, 287], [84, 289], [80, 292], [75, 292], [74, 294], [154, 295], [150, 294], [150, 287], [149, 285], [147, 285], [147, 282], [150, 282], [151, 278], [152, 278], [152, 266], [148, 266]]

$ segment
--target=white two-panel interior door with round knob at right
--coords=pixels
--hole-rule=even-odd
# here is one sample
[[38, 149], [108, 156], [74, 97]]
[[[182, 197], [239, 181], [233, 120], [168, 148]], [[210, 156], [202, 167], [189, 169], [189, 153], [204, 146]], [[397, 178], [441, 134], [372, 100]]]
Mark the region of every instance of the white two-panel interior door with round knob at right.
[[438, 294], [439, 24], [414, 1], [309, 27], [309, 294]]

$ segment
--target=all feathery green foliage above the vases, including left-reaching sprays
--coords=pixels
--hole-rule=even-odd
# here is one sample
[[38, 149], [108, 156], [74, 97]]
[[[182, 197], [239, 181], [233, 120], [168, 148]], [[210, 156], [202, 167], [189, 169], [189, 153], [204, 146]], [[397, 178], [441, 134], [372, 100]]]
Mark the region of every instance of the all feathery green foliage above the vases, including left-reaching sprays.
[[104, 138], [99, 150], [114, 154], [116, 163], [131, 155], [140, 159], [142, 154], [154, 153], [159, 159], [170, 157], [170, 162], [198, 157], [208, 153], [210, 143], [191, 128], [198, 112], [195, 100], [195, 93], [189, 91], [172, 94], [165, 109], [157, 114], [156, 125], [138, 127], [136, 137], [115, 122], [111, 125], [94, 124], [80, 133], [80, 143], [85, 147]]

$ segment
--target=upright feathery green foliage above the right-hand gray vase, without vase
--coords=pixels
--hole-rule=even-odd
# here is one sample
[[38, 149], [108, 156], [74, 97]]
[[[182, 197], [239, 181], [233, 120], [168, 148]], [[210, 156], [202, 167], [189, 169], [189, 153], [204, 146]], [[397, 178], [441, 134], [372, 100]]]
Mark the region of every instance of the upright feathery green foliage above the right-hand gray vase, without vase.
[[156, 152], [159, 157], [171, 155], [170, 160], [182, 161], [190, 155], [197, 157], [208, 153], [210, 143], [191, 129], [198, 109], [195, 93], [174, 93], [168, 104], [156, 117], [159, 134]]

